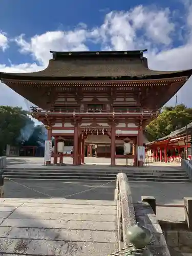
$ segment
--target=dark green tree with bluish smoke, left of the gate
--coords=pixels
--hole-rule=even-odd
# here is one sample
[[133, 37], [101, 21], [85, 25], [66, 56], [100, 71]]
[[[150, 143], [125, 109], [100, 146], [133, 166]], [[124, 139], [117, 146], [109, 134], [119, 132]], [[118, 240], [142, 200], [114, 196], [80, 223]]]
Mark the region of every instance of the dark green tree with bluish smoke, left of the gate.
[[22, 108], [0, 106], [0, 155], [3, 155], [7, 144], [19, 145], [26, 139], [29, 128], [34, 127], [28, 114]]

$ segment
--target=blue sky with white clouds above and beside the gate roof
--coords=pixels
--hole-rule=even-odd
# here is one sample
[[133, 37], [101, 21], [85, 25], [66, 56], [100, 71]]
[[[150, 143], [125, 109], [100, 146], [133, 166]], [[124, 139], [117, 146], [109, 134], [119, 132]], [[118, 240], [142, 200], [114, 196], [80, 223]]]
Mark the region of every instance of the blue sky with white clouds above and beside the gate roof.
[[[192, 69], [192, 1], [1, 0], [0, 71], [44, 69], [49, 50], [144, 48], [151, 69]], [[1, 104], [26, 108], [22, 97], [0, 86]], [[189, 80], [178, 103], [192, 107], [191, 86]]]

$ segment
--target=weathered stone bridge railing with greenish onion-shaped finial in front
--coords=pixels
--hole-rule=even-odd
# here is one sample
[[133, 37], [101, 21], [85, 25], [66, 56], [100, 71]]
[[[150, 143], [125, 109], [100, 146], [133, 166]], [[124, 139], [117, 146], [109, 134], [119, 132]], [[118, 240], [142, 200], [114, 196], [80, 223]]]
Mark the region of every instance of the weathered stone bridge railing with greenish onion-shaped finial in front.
[[[133, 202], [129, 182], [123, 173], [117, 175], [115, 200], [119, 250], [128, 247], [129, 255], [170, 256], [163, 231], [147, 202], [151, 199], [144, 197], [143, 202]], [[134, 253], [136, 251], [138, 254]]]

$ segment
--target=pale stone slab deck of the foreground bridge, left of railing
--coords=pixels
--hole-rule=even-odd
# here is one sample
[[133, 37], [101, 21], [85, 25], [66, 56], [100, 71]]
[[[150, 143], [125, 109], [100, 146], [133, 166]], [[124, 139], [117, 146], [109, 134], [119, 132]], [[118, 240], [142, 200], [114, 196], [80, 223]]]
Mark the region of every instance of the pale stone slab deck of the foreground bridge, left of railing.
[[114, 200], [2, 199], [1, 255], [108, 255], [116, 221]]

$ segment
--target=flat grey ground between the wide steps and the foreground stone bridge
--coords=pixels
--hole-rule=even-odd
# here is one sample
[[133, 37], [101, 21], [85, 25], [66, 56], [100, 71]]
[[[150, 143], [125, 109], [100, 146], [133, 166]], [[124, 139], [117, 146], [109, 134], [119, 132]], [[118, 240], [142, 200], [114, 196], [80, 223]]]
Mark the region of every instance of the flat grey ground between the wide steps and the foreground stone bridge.
[[[49, 198], [66, 197], [69, 199], [90, 200], [114, 200], [115, 182], [103, 185], [102, 182], [64, 182], [64, 181], [18, 181], [26, 188], [12, 181], [5, 181], [5, 197], [7, 198]], [[160, 182], [132, 182], [130, 183], [132, 196], [135, 201], [140, 201], [141, 196], [154, 196], [158, 204], [183, 204], [183, 197], [192, 197], [192, 184], [169, 184]], [[94, 189], [92, 189], [94, 188]], [[84, 193], [81, 191], [92, 189]], [[68, 195], [75, 194], [67, 197]], [[49, 196], [48, 196], [49, 195]], [[157, 217], [160, 220], [184, 220], [184, 209], [182, 208], [157, 208]]]

